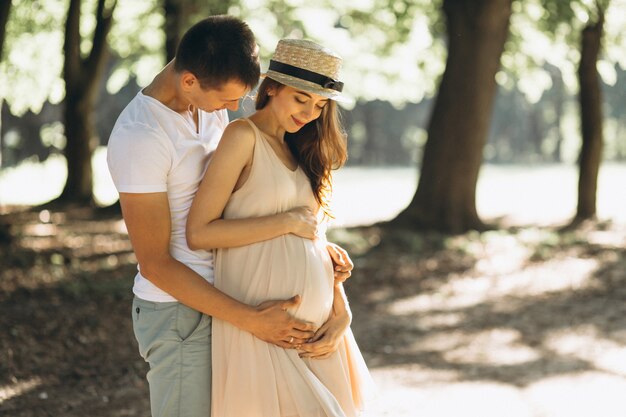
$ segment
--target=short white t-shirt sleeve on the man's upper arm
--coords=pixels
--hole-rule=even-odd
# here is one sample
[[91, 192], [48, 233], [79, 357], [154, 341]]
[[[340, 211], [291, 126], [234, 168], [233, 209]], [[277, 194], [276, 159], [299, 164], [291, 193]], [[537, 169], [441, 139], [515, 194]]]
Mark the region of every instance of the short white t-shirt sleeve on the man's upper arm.
[[111, 133], [107, 164], [120, 193], [167, 191], [173, 147], [167, 137], [149, 127], [119, 127]]

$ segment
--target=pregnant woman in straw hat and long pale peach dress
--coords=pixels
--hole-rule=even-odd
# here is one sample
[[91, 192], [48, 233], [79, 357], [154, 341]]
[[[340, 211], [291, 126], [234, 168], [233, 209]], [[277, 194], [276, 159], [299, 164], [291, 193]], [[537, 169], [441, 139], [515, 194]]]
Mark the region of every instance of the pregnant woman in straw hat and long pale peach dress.
[[228, 126], [191, 207], [190, 247], [219, 248], [217, 288], [251, 305], [299, 295], [291, 313], [332, 339], [308, 352], [298, 333], [278, 347], [215, 320], [214, 417], [355, 416], [371, 385], [349, 328], [323, 327], [332, 314], [350, 320], [317, 221], [330, 214], [331, 169], [346, 160], [340, 66], [313, 42], [281, 40], [257, 111]]

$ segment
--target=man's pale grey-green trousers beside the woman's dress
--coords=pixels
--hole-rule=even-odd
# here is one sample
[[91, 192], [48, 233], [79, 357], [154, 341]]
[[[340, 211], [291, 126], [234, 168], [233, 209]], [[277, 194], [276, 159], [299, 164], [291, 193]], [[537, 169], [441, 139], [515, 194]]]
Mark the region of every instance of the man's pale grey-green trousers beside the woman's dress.
[[139, 353], [150, 364], [152, 417], [211, 415], [211, 317], [178, 302], [133, 300]]

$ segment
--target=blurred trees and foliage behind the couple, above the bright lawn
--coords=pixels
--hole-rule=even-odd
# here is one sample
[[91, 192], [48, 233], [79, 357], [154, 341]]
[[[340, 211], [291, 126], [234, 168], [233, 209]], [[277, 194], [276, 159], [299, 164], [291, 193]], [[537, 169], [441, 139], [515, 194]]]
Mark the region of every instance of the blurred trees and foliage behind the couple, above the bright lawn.
[[[91, 158], [120, 110], [172, 58], [185, 28], [230, 13], [249, 22], [264, 63], [281, 37], [309, 37], [344, 57], [355, 98], [344, 109], [349, 164], [420, 167], [418, 192], [400, 220], [480, 228], [474, 199], [483, 162], [578, 161], [576, 217], [593, 217], [600, 161], [626, 159], [624, 7], [623, 0], [3, 1], [0, 167], [64, 155], [61, 201], [92, 201]], [[250, 100], [243, 109], [252, 107]]]

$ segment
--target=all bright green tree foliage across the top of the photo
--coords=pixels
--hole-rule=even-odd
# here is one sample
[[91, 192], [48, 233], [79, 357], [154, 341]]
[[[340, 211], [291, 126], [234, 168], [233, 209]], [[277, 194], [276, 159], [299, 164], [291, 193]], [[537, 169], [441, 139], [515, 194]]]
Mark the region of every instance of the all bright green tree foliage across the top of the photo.
[[[435, 94], [446, 58], [441, 0], [180, 0], [185, 27], [212, 13], [246, 20], [257, 35], [266, 66], [283, 37], [310, 38], [345, 60], [346, 91], [363, 100], [400, 106]], [[0, 99], [11, 111], [38, 112], [43, 102], [64, 97], [61, 80], [63, 24], [67, 0], [14, 0], [7, 26], [5, 59], [0, 62]], [[625, 0], [600, 0], [606, 8], [605, 54], [598, 64], [603, 80], [617, 81], [615, 65], [626, 69]], [[81, 34], [90, 48], [95, 0], [85, 0]], [[594, 17], [593, 0], [514, 1], [511, 33], [502, 56], [500, 85], [519, 89], [531, 103], [552, 87], [544, 69], [561, 70], [570, 93], [577, 90], [578, 36], [585, 18]], [[164, 65], [163, 0], [120, 1], [109, 43], [115, 67], [110, 93], [129, 80], [146, 85]], [[28, 92], [25, 94], [24, 92]]]

